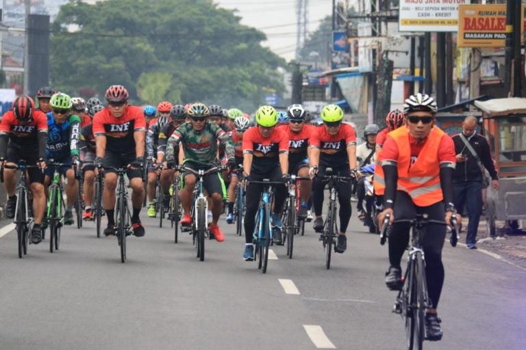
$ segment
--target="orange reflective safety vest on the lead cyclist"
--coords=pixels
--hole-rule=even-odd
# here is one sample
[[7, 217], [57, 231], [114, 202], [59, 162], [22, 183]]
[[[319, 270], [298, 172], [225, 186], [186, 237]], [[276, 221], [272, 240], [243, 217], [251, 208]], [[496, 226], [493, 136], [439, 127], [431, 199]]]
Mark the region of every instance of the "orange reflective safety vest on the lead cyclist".
[[399, 151], [397, 189], [408, 193], [417, 206], [430, 206], [442, 201], [438, 147], [445, 135], [444, 131], [438, 126], [431, 129], [425, 145], [412, 164], [409, 130], [399, 128], [389, 135], [397, 143]]

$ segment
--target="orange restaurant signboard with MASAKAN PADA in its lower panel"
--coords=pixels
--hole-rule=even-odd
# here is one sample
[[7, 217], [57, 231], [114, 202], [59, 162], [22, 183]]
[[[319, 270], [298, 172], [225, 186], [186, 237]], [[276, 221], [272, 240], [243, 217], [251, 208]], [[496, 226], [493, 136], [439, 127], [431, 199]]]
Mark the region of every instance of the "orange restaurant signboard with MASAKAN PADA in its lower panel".
[[[522, 36], [525, 27], [524, 9], [523, 5], [521, 10]], [[459, 47], [503, 47], [506, 32], [506, 5], [460, 5]]]

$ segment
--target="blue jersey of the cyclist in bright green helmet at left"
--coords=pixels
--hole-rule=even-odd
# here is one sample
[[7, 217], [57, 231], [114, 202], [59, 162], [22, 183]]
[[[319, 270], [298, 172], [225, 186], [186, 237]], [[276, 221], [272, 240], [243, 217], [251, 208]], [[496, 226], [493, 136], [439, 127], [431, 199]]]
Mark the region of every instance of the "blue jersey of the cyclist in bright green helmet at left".
[[57, 124], [53, 113], [47, 113], [47, 159], [64, 159], [79, 156], [80, 118], [71, 114], [62, 123]]

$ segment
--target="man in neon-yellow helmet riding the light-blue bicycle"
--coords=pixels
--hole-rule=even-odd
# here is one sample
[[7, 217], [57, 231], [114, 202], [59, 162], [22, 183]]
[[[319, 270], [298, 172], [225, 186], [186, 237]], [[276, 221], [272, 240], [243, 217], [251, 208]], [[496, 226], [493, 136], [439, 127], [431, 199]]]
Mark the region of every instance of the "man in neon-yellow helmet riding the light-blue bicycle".
[[[261, 193], [264, 186], [260, 183], [251, 183], [251, 180], [262, 181], [268, 178], [271, 181], [285, 180], [288, 171], [288, 136], [284, 131], [276, 128], [277, 111], [272, 106], [262, 106], [255, 112], [253, 126], [243, 135], [243, 174], [248, 179], [245, 199], [247, 212], [245, 213], [245, 261], [254, 260], [254, 247], [252, 245], [255, 225], [255, 215], [260, 204]], [[281, 219], [279, 213], [285, 202], [286, 189], [275, 191], [271, 223], [273, 226], [273, 239], [276, 244], [281, 244]]]

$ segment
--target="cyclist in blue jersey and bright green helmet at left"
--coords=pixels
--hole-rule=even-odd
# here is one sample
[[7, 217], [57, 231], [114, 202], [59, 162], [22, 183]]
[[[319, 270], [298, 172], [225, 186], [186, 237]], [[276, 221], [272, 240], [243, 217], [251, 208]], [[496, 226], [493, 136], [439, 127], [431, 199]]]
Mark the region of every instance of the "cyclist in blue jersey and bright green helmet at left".
[[[55, 163], [67, 163], [68, 166], [60, 167], [60, 173], [66, 176], [66, 213], [64, 213], [64, 224], [73, 224], [73, 204], [77, 198], [79, 183], [75, 178], [73, 167], [79, 165], [79, 139], [80, 118], [71, 113], [71, 98], [59, 92], [53, 94], [50, 100], [51, 112], [47, 113], [47, 147], [46, 157], [48, 161], [53, 159]], [[53, 176], [52, 167], [46, 170], [45, 186], [51, 182]]]

